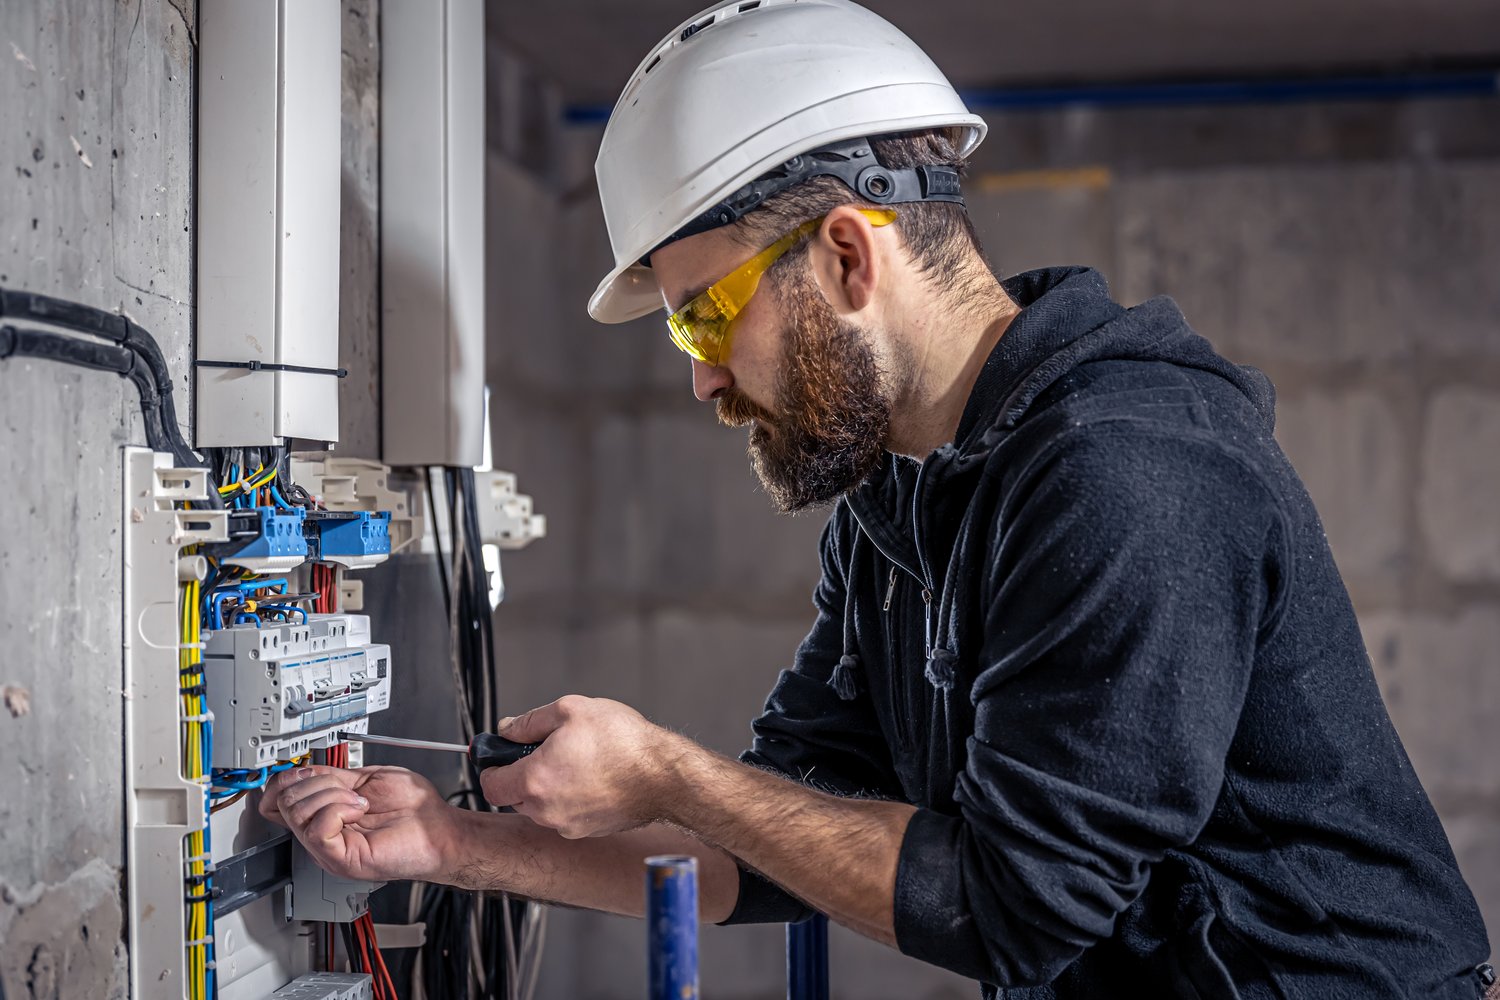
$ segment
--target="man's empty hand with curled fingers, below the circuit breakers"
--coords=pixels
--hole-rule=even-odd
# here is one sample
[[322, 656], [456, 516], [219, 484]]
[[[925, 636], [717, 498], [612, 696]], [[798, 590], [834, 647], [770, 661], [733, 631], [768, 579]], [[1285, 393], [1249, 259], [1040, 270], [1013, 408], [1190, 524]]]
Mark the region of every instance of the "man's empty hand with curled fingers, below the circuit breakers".
[[446, 880], [458, 810], [405, 768], [297, 768], [266, 786], [261, 816], [345, 879]]

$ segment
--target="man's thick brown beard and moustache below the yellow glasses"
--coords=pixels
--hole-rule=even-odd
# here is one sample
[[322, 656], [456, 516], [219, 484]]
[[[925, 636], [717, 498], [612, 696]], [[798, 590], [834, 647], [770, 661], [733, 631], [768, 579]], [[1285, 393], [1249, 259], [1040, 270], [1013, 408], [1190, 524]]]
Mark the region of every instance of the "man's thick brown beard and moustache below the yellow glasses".
[[832, 504], [861, 486], [885, 454], [886, 381], [864, 330], [824, 298], [806, 256], [776, 283], [788, 336], [777, 364], [776, 414], [730, 387], [717, 400], [729, 427], [754, 423], [750, 465], [783, 514]]

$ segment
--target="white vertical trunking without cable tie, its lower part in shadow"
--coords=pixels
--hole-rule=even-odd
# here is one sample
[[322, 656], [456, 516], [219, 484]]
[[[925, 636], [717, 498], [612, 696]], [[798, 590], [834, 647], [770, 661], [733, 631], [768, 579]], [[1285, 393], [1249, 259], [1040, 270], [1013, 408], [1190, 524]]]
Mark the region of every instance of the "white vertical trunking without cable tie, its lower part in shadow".
[[478, 465], [484, 445], [484, 9], [381, 7], [381, 450]]

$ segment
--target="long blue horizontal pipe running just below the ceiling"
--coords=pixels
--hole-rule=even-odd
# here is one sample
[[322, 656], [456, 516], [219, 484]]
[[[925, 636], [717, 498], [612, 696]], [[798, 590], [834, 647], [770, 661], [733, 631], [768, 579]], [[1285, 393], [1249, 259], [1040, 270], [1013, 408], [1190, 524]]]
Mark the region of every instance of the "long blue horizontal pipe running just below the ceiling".
[[[1394, 100], [1400, 97], [1494, 97], [1500, 67], [1394, 73], [1389, 76], [1306, 76], [1204, 79], [1182, 82], [1082, 84], [1074, 87], [982, 87], [960, 90], [970, 111], [1050, 111], [1072, 106], [1305, 103], [1316, 100]], [[566, 124], [603, 124], [612, 105], [579, 103], [562, 109]]]

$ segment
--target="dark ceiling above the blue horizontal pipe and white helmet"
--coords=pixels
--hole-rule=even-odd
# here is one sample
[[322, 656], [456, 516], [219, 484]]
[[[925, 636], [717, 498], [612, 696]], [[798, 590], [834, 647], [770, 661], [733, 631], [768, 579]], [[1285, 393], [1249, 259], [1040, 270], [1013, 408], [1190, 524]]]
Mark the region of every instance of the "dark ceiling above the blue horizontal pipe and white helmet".
[[[614, 103], [706, 0], [488, 4], [490, 40], [570, 103]], [[1500, 63], [1496, 0], [868, 0], [960, 88]]]

